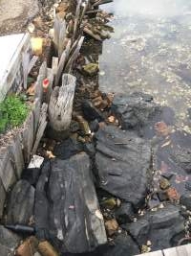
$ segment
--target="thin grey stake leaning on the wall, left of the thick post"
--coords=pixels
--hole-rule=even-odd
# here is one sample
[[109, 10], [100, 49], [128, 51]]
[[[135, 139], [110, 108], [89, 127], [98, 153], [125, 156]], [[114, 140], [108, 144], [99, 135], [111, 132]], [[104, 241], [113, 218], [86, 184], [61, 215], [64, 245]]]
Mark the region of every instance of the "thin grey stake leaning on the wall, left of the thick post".
[[41, 108], [41, 112], [40, 112], [39, 123], [38, 123], [38, 128], [37, 128], [37, 132], [36, 132], [36, 136], [35, 136], [35, 141], [34, 141], [33, 148], [32, 148], [32, 155], [35, 154], [35, 152], [37, 151], [40, 140], [43, 136], [45, 128], [47, 127], [47, 109], [48, 109], [48, 105], [43, 104], [42, 108]]

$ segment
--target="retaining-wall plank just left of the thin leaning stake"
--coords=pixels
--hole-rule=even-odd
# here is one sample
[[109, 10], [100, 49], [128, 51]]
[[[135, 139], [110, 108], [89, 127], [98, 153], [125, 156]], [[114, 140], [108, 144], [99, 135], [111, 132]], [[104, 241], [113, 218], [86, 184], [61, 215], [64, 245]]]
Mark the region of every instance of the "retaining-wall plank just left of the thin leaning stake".
[[28, 164], [31, 158], [31, 151], [32, 151], [32, 145], [33, 145], [33, 133], [34, 133], [33, 129], [34, 129], [34, 118], [33, 118], [33, 113], [31, 112], [24, 124], [24, 129], [22, 131], [23, 154], [24, 154], [25, 164]]

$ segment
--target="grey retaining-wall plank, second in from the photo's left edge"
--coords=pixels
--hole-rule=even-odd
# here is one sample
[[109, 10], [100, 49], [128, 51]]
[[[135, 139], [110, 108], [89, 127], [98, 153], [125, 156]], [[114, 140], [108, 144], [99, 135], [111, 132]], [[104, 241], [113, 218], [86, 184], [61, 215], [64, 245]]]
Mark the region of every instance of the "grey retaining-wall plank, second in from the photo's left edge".
[[20, 179], [25, 167], [20, 136], [15, 136], [9, 146], [11, 165], [17, 179]]

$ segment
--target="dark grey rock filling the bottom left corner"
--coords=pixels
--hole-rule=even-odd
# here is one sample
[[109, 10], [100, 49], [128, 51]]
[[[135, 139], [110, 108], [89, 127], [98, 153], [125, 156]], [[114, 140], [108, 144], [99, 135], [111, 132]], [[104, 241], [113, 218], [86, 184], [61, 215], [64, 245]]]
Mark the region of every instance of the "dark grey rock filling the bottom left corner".
[[21, 242], [21, 238], [9, 229], [0, 225], [0, 254], [1, 256], [13, 256], [14, 250]]

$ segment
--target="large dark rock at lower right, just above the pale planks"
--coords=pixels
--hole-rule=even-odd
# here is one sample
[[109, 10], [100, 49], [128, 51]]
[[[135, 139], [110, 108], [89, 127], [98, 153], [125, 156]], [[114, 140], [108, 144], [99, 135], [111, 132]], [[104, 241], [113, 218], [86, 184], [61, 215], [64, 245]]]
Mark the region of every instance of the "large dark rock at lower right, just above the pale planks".
[[128, 232], [141, 246], [151, 241], [152, 250], [177, 245], [177, 238], [184, 237], [184, 219], [180, 208], [167, 205], [157, 212], [149, 212], [127, 227]]

